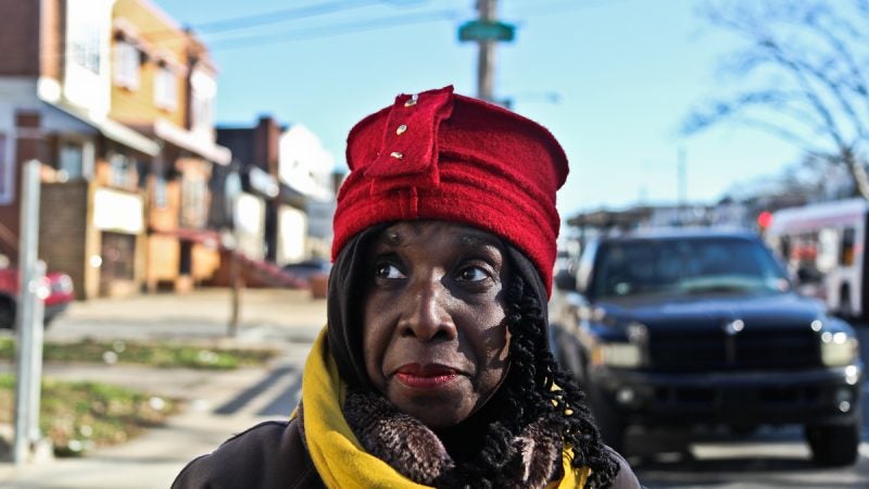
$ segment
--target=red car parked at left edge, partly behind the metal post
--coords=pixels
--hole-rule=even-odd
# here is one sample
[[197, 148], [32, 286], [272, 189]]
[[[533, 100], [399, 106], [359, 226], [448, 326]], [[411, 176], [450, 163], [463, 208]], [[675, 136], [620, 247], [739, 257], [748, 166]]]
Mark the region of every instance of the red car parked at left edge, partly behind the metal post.
[[[48, 297], [46, 298], [45, 324], [48, 326], [75, 299], [73, 280], [61, 272], [46, 274]], [[0, 268], [0, 328], [15, 327], [15, 310], [18, 301], [18, 271]]]

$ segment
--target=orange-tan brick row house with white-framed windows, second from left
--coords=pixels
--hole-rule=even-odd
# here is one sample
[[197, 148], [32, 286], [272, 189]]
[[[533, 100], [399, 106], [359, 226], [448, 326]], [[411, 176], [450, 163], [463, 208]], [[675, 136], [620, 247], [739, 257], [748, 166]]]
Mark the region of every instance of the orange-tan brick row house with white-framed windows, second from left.
[[112, 43], [110, 116], [160, 145], [143, 181], [146, 285], [188, 289], [219, 266], [209, 181], [231, 156], [215, 142], [216, 68], [203, 43], [147, 0], [116, 0]]

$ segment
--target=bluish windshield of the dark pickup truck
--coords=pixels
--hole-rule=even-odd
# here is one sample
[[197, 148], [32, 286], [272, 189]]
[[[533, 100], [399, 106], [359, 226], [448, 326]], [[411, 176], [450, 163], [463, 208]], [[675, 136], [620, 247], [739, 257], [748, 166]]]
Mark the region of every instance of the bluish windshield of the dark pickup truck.
[[668, 238], [609, 242], [597, 256], [595, 297], [784, 292], [790, 283], [758, 241]]

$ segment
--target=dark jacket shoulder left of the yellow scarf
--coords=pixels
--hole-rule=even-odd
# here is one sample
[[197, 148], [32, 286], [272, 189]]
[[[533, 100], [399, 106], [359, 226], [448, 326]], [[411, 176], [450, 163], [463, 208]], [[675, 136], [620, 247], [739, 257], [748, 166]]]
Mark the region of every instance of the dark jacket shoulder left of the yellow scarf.
[[173, 489], [322, 488], [298, 418], [261, 423], [178, 474]]

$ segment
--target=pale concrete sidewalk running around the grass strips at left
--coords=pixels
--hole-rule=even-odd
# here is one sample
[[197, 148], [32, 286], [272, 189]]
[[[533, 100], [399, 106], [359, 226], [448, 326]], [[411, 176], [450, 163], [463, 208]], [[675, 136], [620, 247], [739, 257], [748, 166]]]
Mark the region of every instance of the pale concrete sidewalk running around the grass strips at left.
[[[229, 291], [209, 289], [188, 294], [139, 296], [75, 303], [48, 329], [49, 341], [80, 337], [168, 339], [231, 344], [268, 344], [285, 354], [267, 368], [231, 372], [159, 369], [129, 365], [46, 365], [46, 377], [117, 383], [158, 396], [187, 401], [186, 412], [123, 446], [104, 448], [81, 459], [50, 459], [15, 467], [0, 463], [0, 488], [21, 489], [152, 489], [167, 488], [194, 456], [207, 453], [231, 434], [266, 418], [289, 414], [284, 396], [277, 412], [263, 414], [255, 402], [229, 414], [214, 411], [263, 384], [269, 372], [291, 372], [295, 378], [274, 383], [279, 394], [301, 375], [301, 365], [325, 324], [324, 300], [303, 290], [245, 289], [238, 335], [227, 338]], [[262, 403], [261, 403], [262, 404]], [[279, 414], [278, 414], [279, 413]]]

